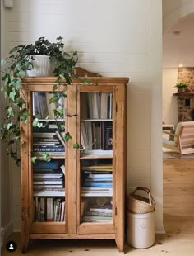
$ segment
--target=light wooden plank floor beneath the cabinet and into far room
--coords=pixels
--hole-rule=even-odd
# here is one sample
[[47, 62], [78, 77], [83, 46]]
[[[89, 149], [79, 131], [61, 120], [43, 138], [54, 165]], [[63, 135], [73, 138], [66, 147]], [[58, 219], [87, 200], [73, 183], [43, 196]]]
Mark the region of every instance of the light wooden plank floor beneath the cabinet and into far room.
[[[156, 235], [154, 246], [133, 249], [131, 256], [194, 256], [194, 159], [164, 159], [164, 227], [165, 235]], [[13, 239], [21, 254], [20, 234]], [[29, 256], [114, 256], [118, 250], [112, 240], [34, 240], [26, 253]], [[5, 249], [3, 256], [8, 256]]]

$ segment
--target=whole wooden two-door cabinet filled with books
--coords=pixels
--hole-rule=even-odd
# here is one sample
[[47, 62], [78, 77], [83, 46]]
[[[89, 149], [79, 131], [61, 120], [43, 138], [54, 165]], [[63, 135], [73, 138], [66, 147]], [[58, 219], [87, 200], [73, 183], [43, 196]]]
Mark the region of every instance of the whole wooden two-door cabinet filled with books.
[[[72, 136], [65, 146], [48, 104], [54, 81], [34, 77], [22, 84], [31, 114], [21, 125], [22, 251], [29, 239], [115, 239], [123, 251], [128, 78], [76, 78], [58, 86], [60, 134]], [[33, 127], [35, 117], [44, 127]], [[44, 152], [50, 162], [39, 159]]]

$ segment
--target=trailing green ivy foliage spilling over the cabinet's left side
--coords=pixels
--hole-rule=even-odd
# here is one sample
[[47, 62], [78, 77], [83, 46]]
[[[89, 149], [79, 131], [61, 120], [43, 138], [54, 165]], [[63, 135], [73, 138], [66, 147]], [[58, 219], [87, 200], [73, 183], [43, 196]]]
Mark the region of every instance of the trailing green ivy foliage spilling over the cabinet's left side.
[[[53, 92], [56, 92], [58, 84], [71, 84], [72, 78], [75, 77], [72, 73], [72, 69], [75, 67], [78, 59], [77, 52], [65, 52], [61, 36], [59, 36], [54, 43], [46, 40], [44, 37], [40, 37], [34, 44], [18, 45], [10, 50], [7, 59], [1, 59], [1, 79], [3, 82], [1, 89], [5, 98], [1, 140], [6, 141], [7, 154], [9, 154], [12, 159], [16, 160], [16, 164], [20, 163], [20, 150], [18, 149], [18, 145], [22, 146], [25, 150], [25, 142], [21, 142], [20, 137], [20, 122], [26, 123], [30, 116], [25, 99], [20, 95], [21, 83], [22, 78], [25, 77], [27, 72], [38, 69], [39, 65], [35, 62], [37, 55], [47, 56], [46, 59], [49, 59], [53, 64], [53, 75], [56, 76]], [[43, 75], [43, 73], [39, 71], [38, 74]], [[33, 75], [36, 74], [33, 73]], [[67, 93], [62, 92], [62, 97], [67, 97]], [[50, 99], [50, 103], [57, 101], [58, 97]], [[60, 109], [54, 109], [53, 111], [55, 112], [56, 118], [61, 117], [62, 112]], [[42, 126], [37, 118], [35, 118], [32, 125], [36, 127]], [[67, 141], [71, 138], [71, 135], [67, 132], [63, 139]], [[78, 148], [79, 145], [76, 143], [74, 147]], [[43, 158], [49, 160], [45, 154]], [[33, 155], [32, 161], [35, 161]]]

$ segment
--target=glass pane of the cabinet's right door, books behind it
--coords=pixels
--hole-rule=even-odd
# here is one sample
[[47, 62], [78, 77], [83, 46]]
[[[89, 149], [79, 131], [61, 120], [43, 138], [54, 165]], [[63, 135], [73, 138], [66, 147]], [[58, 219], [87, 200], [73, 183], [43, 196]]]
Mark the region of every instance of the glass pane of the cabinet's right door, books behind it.
[[113, 92], [80, 92], [80, 233], [113, 231], [113, 129]]

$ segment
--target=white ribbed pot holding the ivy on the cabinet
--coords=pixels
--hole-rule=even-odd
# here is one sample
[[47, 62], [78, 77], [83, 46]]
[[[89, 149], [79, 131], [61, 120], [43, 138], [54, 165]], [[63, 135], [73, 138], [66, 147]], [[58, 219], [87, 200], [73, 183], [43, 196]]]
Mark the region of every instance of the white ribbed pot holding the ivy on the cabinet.
[[26, 75], [28, 77], [45, 77], [52, 75], [49, 56], [31, 55], [30, 58], [34, 68], [31, 70], [26, 70]]

